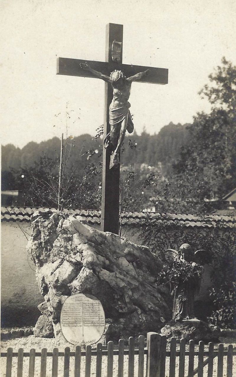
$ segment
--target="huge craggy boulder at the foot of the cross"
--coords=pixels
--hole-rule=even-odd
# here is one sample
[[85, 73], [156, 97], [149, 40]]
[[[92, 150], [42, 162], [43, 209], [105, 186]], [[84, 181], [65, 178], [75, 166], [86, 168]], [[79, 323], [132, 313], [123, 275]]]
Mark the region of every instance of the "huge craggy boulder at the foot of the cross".
[[117, 337], [157, 331], [160, 317], [170, 319], [169, 292], [155, 285], [162, 263], [147, 247], [49, 210], [35, 212], [31, 222], [28, 250], [55, 336], [62, 304], [76, 293], [100, 300]]

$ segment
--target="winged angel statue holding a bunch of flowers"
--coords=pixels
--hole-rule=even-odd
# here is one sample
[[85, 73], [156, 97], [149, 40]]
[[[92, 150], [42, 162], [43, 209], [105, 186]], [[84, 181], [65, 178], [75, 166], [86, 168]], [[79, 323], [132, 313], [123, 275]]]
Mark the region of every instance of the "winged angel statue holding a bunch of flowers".
[[172, 319], [181, 321], [196, 318], [193, 311], [194, 296], [200, 289], [203, 265], [210, 262], [209, 252], [197, 250], [194, 253], [189, 244], [183, 244], [179, 251], [168, 249], [164, 255], [166, 274], [174, 294]]

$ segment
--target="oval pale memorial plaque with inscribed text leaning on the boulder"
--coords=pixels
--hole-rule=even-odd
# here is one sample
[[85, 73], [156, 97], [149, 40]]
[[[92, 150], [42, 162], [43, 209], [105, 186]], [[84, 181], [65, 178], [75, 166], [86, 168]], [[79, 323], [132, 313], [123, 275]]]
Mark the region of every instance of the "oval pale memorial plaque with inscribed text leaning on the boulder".
[[67, 342], [74, 345], [94, 344], [100, 340], [105, 329], [102, 304], [91, 294], [74, 294], [62, 306], [60, 324]]

